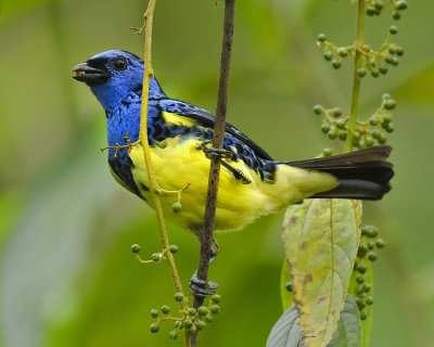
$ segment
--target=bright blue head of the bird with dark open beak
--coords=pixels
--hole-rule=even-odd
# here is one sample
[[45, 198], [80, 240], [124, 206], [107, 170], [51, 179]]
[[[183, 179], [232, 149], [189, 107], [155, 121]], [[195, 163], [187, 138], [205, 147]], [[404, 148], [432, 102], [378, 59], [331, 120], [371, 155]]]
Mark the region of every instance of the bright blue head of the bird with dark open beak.
[[[118, 106], [131, 92], [142, 89], [144, 64], [137, 55], [112, 50], [90, 57], [73, 68], [75, 79], [86, 82], [104, 110]], [[150, 99], [165, 94], [155, 78], [151, 79]]]

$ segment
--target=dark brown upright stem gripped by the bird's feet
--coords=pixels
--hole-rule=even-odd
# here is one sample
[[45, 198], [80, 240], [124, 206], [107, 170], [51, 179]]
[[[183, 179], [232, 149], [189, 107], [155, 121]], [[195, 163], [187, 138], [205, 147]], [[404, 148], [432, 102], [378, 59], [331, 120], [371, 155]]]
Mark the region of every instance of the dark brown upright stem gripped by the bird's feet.
[[[235, 0], [225, 1], [225, 23], [224, 38], [221, 44], [220, 77], [218, 82], [218, 97], [216, 108], [216, 121], [214, 125], [213, 146], [222, 149], [226, 127], [226, 108], [228, 103], [229, 72], [232, 53], [233, 21], [235, 13]], [[208, 266], [212, 256], [210, 247], [213, 243], [213, 230], [216, 216], [218, 181], [220, 175], [220, 158], [215, 157], [210, 160], [208, 192], [206, 197], [206, 209], [204, 219], [204, 230], [201, 234], [201, 255], [197, 267], [197, 278], [206, 281]], [[194, 297], [194, 307], [199, 308], [204, 301], [201, 296]], [[197, 335], [192, 336], [192, 346], [196, 346]]]

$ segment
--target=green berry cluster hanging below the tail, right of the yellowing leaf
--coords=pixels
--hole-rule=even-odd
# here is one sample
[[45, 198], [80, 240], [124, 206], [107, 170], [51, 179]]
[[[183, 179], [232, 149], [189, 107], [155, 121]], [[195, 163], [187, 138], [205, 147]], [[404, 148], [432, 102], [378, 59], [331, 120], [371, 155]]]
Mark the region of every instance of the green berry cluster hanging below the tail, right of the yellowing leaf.
[[368, 268], [366, 266], [366, 261], [375, 261], [376, 260], [376, 252], [375, 249], [381, 249], [385, 246], [385, 242], [383, 239], [378, 237], [379, 230], [373, 226], [365, 226], [361, 229], [361, 240], [360, 245], [357, 250], [357, 260], [354, 266], [354, 271], [357, 271], [359, 274], [356, 278], [357, 286], [354, 290], [354, 295], [356, 297], [356, 304], [360, 311], [360, 319], [366, 320], [368, 318], [368, 313], [365, 307], [373, 304], [373, 297], [369, 295], [372, 288], [372, 284], [369, 283], [365, 273]]

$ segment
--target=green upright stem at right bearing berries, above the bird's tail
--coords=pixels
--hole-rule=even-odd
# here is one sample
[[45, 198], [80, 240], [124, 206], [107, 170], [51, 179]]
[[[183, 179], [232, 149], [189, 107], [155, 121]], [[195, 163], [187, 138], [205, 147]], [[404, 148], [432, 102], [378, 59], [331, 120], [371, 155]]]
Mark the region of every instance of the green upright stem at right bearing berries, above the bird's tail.
[[360, 99], [360, 81], [361, 78], [357, 70], [361, 67], [362, 53], [361, 49], [365, 41], [365, 2], [366, 0], [358, 0], [357, 9], [357, 30], [356, 30], [356, 56], [354, 60], [354, 79], [353, 79], [353, 97], [352, 108], [349, 113], [348, 133], [346, 137], [345, 152], [353, 151], [353, 133], [356, 129], [357, 116], [359, 113], [359, 99]]

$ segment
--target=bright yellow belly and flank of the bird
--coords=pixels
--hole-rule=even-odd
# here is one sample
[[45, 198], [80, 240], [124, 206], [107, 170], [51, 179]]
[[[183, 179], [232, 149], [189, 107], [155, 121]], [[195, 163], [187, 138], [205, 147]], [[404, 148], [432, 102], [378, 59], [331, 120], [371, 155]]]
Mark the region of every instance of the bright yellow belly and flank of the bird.
[[[165, 114], [167, 116], [168, 114]], [[171, 205], [176, 194], [163, 193], [161, 197], [164, 216], [181, 228], [197, 230], [203, 226], [209, 159], [200, 149], [199, 139], [166, 139], [164, 145], [151, 147], [158, 185], [164, 190], [181, 190], [182, 209], [175, 213]], [[141, 194], [152, 205], [150, 182], [141, 145], [132, 147], [129, 156], [133, 163], [132, 177]], [[221, 167], [217, 198], [216, 230], [237, 230], [260, 216], [278, 211], [315, 193], [328, 191], [337, 185], [336, 179], [323, 172], [309, 171], [288, 165], [279, 165], [273, 183], [265, 183], [258, 174], [242, 160], [225, 159], [232, 167], [243, 171], [252, 183], [243, 184], [231, 171]], [[143, 185], [146, 189], [143, 189]]]

